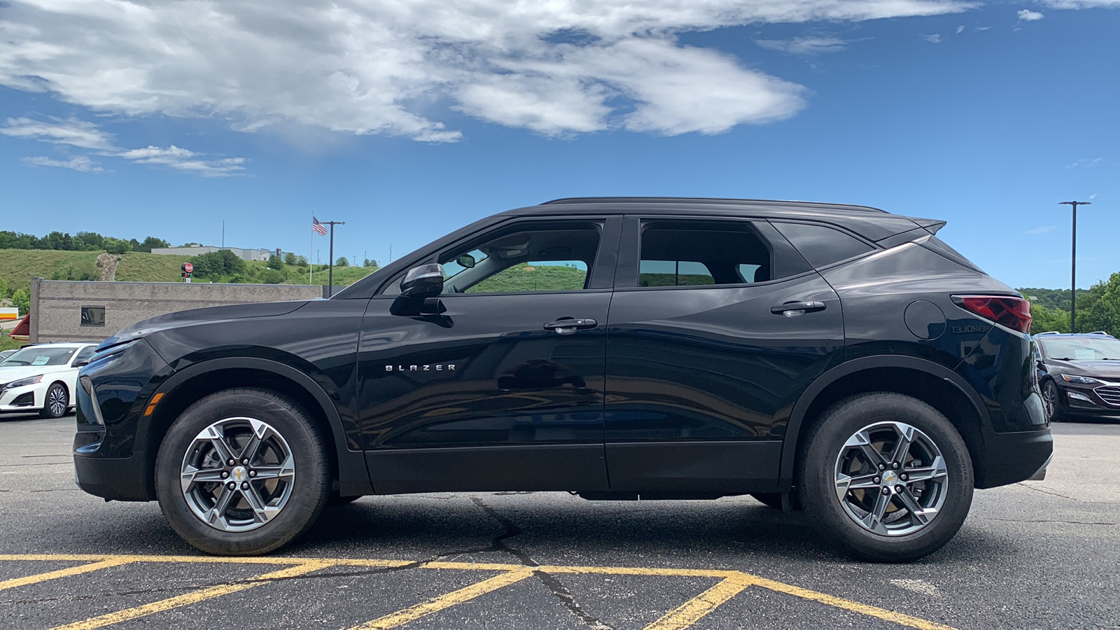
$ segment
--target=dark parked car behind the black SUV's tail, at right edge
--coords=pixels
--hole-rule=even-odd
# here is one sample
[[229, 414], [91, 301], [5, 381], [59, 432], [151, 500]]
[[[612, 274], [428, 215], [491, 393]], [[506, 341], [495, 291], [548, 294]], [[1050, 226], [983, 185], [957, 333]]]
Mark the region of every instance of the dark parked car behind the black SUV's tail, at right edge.
[[1120, 417], [1120, 340], [1104, 332], [1039, 333], [1035, 364], [1051, 421]]

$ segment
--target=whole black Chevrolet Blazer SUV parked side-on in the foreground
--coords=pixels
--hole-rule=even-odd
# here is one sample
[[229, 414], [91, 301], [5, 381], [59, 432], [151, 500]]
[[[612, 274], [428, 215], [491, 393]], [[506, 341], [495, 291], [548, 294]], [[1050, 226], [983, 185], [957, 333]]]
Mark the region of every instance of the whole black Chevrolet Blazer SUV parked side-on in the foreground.
[[1044, 472], [1029, 305], [864, 206], [569, 198], [326, 300], [162, 315], [82, 370], [83, 490], [262, 554], [365, 494], [752, 494], [907, 560]]

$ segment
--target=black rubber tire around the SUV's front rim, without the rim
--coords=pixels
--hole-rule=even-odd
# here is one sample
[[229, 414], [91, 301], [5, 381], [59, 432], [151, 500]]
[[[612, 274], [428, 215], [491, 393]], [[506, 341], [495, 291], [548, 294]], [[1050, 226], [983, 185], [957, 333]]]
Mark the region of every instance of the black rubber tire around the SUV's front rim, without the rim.
[[[211, 527], [192, 511], [180, 487], [187, 451], [199, 432], [216, 421], [248, 417], [268, 423], [290, 447], [296, 474], [282, 509], [248, 531]], [[227, 389], [188, 407], [171, 425], [156, 460], [156, 495], [171, 528], [207, 554], [267, 554], [304, 534], [318, 519], [330, 495], [327, 441], [311, 417], [295, 401], [256, 388]], [[242, 499], [244, 500], [244, 499]]]

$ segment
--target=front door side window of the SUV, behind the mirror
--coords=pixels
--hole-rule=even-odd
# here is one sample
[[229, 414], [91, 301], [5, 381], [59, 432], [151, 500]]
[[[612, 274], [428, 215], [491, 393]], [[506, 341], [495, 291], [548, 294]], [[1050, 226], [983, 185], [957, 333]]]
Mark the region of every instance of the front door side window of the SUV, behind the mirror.
[[601, 224], [510, 226], [440, 257], [445, 294], [569, 291], [588, 286]]

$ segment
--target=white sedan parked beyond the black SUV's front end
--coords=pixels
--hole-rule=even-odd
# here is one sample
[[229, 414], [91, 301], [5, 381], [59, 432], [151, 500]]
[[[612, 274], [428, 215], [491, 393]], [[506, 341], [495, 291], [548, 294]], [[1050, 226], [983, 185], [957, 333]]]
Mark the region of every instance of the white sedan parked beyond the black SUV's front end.
[[0, 414], [65, 416], [74, 406], [77, 371], [90, 362], [95, 348], [92, 343], [40, 343], [0, 361]]

